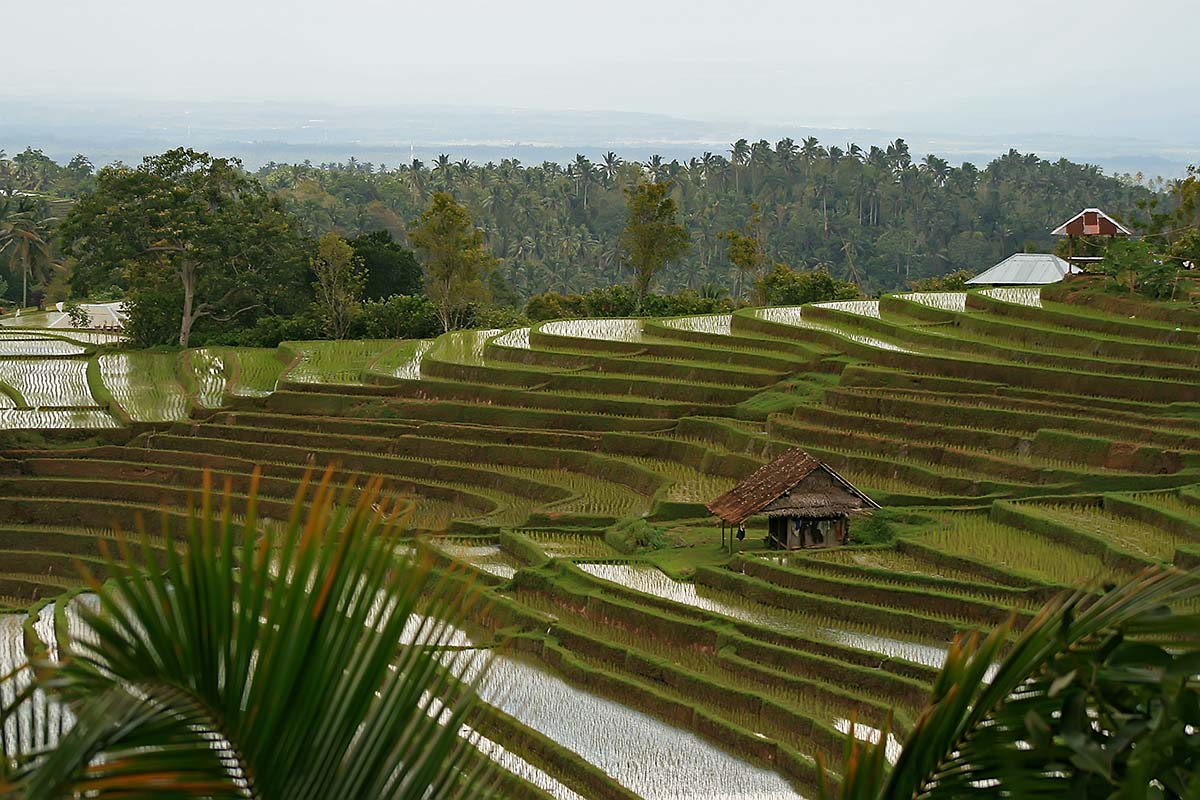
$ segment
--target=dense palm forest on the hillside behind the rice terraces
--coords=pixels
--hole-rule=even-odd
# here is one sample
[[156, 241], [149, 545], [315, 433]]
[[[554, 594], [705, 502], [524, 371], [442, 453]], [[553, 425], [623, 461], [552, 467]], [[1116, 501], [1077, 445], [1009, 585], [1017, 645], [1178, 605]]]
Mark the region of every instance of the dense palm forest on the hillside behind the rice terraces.
[[[258, 172], [313, 235], [388, 229], [402, 237], [436, 191], [451, 192], [480, 225], [509, 287], [522, 299], [629, 281], [620, 259], [624, 190], [670, 181], [691, 248], [668, 266], [664, 290], [706, 284], [733, 293], [727, 230], [762, 240], [768, 263], [828, 269], [866, 294], [956, 270], [980, 271], [1013, 252], [1049, 251], [1050, 230], [1098, 205], [1133, 224], [1156, 192], [1129, 176], [1009, 151], [983, 169], [937, 156], [913, 161], [902, 139], [884, 148], [815, 139], [733, 143], [685, 163], [614, 152], [593, 163], [473, 164], [439, 157], [384, 168], [268, 164]], [[751, 225], [754, 206], [761, 223]], [[748, 288], [748, 287], [743, 287]]]

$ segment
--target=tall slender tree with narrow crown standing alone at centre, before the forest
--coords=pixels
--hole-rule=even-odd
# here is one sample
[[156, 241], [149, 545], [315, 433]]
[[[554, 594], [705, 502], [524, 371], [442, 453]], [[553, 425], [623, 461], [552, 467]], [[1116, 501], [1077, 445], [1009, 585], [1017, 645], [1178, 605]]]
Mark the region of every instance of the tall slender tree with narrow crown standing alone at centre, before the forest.
[[654, 276], [670, 261], [688, 254], [688, 229], [679, 223], [679, 212], [671, 197], [671, 184], [641, 182], [625, 191], [628, 218], [620, 243], [634, 270], [637, 307], [654, 282]]

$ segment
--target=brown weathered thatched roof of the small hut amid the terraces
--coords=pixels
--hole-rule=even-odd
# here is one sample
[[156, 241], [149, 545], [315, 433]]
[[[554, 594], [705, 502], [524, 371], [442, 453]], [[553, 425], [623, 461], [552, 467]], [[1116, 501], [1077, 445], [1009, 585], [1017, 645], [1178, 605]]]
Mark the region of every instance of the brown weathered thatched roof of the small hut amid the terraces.
[[[799, 486], [818, 470], [828, 475], [829, 480], [822, 485]], [[878, 507], [877, 503], [850, 481], [799, 447], [792, 447], [758, 468], [750, 477], [708, 504], [709, 511], [732, 525], [745, 522], [756, 513], [773, 517], [830, 517]]]

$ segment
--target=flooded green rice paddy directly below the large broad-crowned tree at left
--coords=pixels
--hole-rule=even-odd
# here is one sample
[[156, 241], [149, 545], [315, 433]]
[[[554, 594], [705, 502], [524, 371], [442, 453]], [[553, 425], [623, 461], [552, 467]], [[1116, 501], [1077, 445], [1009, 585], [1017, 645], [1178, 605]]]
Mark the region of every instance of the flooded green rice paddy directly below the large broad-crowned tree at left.
[[109, 353], [100, 356], [104, 386], [138, 422], [170, 422], [187, 416], [187, 392], [175, 378], [170, 353]]

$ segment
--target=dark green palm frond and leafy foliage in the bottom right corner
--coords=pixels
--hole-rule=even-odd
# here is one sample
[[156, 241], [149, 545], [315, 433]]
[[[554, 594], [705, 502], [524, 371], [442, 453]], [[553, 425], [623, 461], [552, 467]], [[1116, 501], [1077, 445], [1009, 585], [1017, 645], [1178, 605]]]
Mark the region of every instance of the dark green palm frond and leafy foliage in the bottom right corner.
[[[1156, 567], [950, 649], [896, 764], [851, 738], [842, 800], [1200, 796], [1200, 576]], [[998, 661], [995, 675], [989, 669]]]

